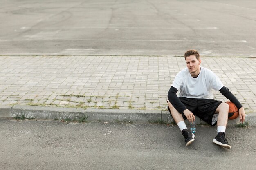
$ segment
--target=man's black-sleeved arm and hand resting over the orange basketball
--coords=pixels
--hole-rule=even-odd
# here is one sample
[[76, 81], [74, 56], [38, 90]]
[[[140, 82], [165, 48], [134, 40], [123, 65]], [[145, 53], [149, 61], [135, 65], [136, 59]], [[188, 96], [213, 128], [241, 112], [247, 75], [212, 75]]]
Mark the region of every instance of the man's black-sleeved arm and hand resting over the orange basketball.
[[226, 97], [236, 105], [239, 110], [240, 122], [243, 123], [243, 121], [245, 121], [245, 110], [243, 108], [243, 105], [238, 101], [238, 99], [236, 99], [236, 97], [229, 91], [227, 87], [223, 86], [219, 91], [224, 97]]

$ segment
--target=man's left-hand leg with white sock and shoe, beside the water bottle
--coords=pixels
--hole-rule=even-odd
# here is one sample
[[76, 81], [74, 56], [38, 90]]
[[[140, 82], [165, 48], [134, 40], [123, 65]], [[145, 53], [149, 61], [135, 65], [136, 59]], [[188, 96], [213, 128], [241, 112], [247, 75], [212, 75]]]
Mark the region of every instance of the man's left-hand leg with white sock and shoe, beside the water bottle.
[[179, 126], [182, 135], [185, 138], [186, 146], [189, 146], [195, 140], [195, 135], [191, 133], [190, 130], [188, 130], [188, 128], [186, 127], [182, 114], [180, 114], [169, 101], [167, 103], [170, 109], [171, 116], [173, 117], [176, 124]]

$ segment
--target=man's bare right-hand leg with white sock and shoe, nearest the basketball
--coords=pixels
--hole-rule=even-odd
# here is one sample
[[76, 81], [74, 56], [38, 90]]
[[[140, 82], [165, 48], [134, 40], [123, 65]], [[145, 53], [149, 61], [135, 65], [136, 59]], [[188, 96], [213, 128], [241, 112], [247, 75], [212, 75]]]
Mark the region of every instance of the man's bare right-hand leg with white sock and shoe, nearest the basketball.
[[213, 142], [229, 149], [229, 148], [231, 148], [231, 146], [227, 142], [227, 139], [225, 136], [227, 120], [228, 120], [228, 113], [229, 113], [229, 105], [224, 102], [221, 103], [218, 106], [218, 108], [216, 109], [216, 112], [218, 112], [218, 120], [217, 120], [218, 134], [213, 139]]

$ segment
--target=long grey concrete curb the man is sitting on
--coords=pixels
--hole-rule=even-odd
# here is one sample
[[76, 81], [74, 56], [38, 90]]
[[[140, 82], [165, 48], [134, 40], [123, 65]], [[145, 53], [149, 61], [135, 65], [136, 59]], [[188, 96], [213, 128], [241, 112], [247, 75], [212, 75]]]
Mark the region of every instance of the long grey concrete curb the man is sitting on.
[[[88, 117], [88, 121], [132, 121], [137, 123], [168, 122], [173, 118], [168, 111], [160, 110], [131, 110], [131, 109], [97, 109], [97, 108], [62, 108], [45, 106], [0, 105], [0, 117], [16, 117], [24, 115], [26, 118], [36, 119], [81, 119]], [[256, 125], [256, 113], [248, 113], [245, 121], [249, 125]], [[188, 122], [186, 122], [188, 123]], [[196, 124], [206, 124], [197, 118]], [[239, 124], [239, 119], [229, 120], [228, 125]]]

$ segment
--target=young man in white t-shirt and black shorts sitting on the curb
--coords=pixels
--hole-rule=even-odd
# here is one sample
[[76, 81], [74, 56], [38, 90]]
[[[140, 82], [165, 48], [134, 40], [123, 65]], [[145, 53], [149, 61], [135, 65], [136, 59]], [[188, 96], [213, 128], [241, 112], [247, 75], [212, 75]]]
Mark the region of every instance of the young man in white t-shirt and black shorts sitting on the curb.
[[[214, 100], [212, 89], [220, 91], [237, 106], [240, 122], [245, 121], [243, 106], [211, 70], [200, 66], [201, 59], [198, 51], [188, 50], [184, 57], [187, 68], [176, 75], [168, 92], [169, 100], [167, 102], [171, 116], [182, 131], [186, 146], [195, 140], [195, 135], [188, 130], [184, 120], [188, 119], [193, 122], [195, 121], [194, 115], [197, 115], [211, 126], [217, 124], [218, 134], [213, 139], [214, 143], [228, 149], [231, 148], [225, 137], [229, 105]], [[218, 114], [218, 118], [214, 119], [217, 117], [216, 114]]]

